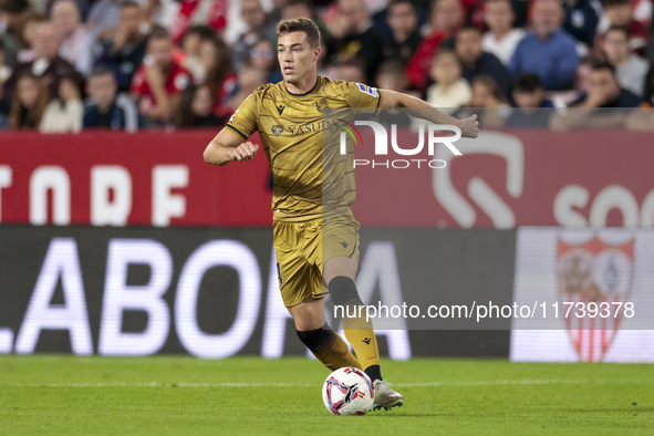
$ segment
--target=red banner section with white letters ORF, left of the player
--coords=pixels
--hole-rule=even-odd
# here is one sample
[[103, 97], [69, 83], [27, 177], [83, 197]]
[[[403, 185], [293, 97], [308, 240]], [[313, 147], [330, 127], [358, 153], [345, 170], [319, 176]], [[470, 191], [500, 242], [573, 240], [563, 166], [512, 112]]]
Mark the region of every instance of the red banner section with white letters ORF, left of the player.
[[[2, 222], [96, 226], [270, 226], [269, 169], [217, 169], [215, 132], [2, 133]], [[258, 135], [252, 141], [258, 142]], [[243, 193], [247, 191], [247, 198]]]

